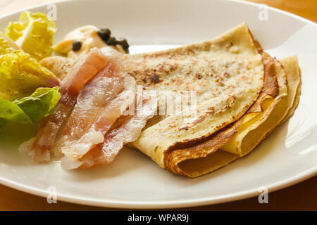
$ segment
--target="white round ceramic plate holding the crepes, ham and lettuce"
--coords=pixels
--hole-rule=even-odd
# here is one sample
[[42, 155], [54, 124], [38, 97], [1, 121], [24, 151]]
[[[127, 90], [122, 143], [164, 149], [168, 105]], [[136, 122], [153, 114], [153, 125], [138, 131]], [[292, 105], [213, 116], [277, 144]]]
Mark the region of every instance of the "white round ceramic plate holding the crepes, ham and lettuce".
[[[115, 162], [88, 170], [64, 171], [59, 162], [32, 165], [19, 155], [18, 143], [35, 135], [27, 127], [7, 127], [0, 136], [0, 183], [58, 200], [123, 208], [189, 207], [223, 203], [285, 188], [317, 172], [317, 26], [273, 8], [240, 1], [108, 0], [65, 1], [57, 5], [55, 41], [81, 25], [108, 27], [126, 37], [132, 52], [211, 39], [247, 22], [272, 56], [297, 54], [302, 96], [296, 113], [259, 148], [216, 172], [197, 179], [170, 174], [137, 150], [124, 149]], [[264, 11], [263, 11], [264, 10]], [[268, 10], [268, 11], [266, 11]], [[32, 11], [47, 13], [46, 6]], [[259, 20], [268, 13], [268, 20]], [[264, 13], [264, 14], [263, 14]], [[1, 30], [20, 13], [0, 20]], [[142, 46], [137, 46], [142, 45]], [[23, 135], [21, 135], [23, 134]]]

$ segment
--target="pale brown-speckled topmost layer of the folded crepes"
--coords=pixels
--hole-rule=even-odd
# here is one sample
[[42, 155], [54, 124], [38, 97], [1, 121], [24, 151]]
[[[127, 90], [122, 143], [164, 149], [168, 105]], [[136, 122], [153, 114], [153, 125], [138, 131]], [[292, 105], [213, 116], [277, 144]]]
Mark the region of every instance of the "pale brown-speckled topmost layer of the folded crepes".
[[125, 58], [144, 89], [197, 91], [196, 114], [162, 116], [133, 143], [161, 167], [176, 143], [199, 141], [242, 117], [263, 87], [261, 54], [245, 23], [211, 41]]

